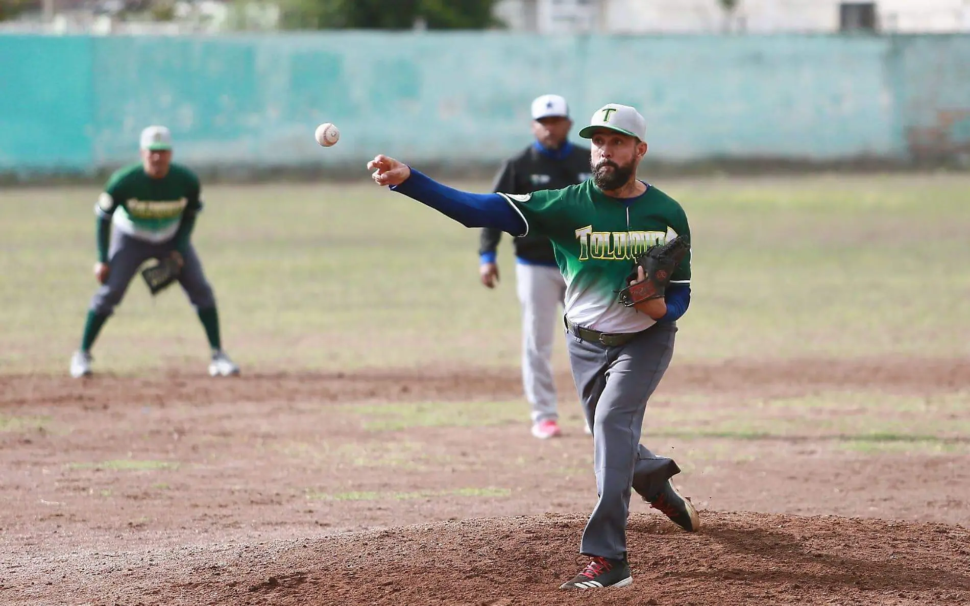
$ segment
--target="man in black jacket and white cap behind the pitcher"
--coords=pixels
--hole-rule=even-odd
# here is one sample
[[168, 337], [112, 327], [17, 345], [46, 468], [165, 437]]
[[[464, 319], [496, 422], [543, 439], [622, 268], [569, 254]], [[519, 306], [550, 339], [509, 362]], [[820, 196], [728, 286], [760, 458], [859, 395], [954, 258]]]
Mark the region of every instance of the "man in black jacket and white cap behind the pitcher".
[[[572, 120], [566, 99], [542, 95], [533, 101], [532, 114], [535, 142], [502, 165], [492, 191], [529, 194], [590, 177], [589, 148], [567, 140]], [[501, 230], [482, 229], [480, 274], [488, 288], [499, 281], [499, 239]], [[548, 239], [526, 235], [513, 241], [516, 290], [522, 303], [522, 384], [532, 405], [533, 435], [545, 439], [560, 434], [550, 358], [556, 327], [563, 325], [559, 306], [566, 296], [566, 282]]]

